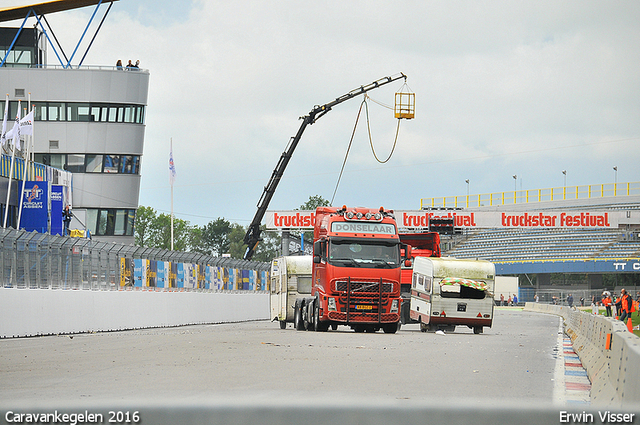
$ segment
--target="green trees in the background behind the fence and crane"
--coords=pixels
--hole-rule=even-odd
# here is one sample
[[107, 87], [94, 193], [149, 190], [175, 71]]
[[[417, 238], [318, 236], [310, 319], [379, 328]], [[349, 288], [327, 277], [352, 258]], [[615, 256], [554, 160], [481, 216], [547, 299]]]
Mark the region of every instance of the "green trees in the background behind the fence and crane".
[[[300, 210], [315, 210], [318, 206], [327, 206], [329, 201], [322, 196], [310, 196], [300, 206]], [[198, 252], [200, 254], [231, 258], [242, 258], [247, 249], [244, 235], [247, 227], [231, 223], [218, 217], [204, 226], [191, 225], [189, 221], [173, 218], [174, 251]], [[140, 206], [136, 212], [134, 228], [136, 246], [147, 248], [171, 249], [171, 215], [160, 213], [151, 208]], [[278, 231], [266, 230], [262, 226], [262, 241], [253, 255], [255, 261], [271, 261], [280, 255], [281, 236]]]

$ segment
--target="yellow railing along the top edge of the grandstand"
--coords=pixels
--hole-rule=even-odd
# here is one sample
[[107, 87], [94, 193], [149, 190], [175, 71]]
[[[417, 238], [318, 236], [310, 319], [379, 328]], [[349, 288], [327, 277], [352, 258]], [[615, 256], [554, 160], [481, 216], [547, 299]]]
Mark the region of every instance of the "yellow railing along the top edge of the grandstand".
[[640, 182], [606, 183], [586, 186], [554, 187], [549, 189], [512, 190], [480, 195], [422, 198], [420, 199], [420, 208], [473, 208], [631, 195], [640, 195]]

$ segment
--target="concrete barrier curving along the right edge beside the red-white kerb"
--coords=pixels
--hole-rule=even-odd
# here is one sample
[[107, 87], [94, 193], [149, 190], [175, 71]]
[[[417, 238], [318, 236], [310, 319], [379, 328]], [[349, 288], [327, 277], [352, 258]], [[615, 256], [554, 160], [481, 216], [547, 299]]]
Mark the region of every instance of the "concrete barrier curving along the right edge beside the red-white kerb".
[[640, 338], [624, 323], [566, 306], [526, 303], [525, 310], [562, 316], [591, 381], [593, 405], [640, 404]]

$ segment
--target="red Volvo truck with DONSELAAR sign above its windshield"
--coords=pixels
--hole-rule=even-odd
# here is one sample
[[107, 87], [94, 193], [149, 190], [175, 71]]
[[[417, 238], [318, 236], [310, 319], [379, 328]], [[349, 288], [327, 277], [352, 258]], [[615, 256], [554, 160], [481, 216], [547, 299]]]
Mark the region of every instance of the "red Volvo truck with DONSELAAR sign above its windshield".
[[294, 327], [395, 333], [402, 259], [393, 211], [319, 207], [313, 241], [311, 296], [296, 299]]

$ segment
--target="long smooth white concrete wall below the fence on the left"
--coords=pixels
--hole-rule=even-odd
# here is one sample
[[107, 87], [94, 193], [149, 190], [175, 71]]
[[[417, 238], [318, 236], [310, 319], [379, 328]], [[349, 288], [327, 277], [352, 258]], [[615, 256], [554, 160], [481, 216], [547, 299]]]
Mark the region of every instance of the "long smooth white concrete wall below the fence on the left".
[[268, 318], [268, 292], [0, 288], [0, 338]]

